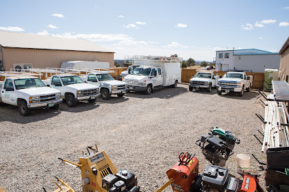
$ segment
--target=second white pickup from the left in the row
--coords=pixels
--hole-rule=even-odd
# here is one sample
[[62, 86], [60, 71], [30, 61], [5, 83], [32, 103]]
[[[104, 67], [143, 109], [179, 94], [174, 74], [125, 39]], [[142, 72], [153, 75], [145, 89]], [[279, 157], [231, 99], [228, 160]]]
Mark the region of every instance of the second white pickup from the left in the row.
[[58, 74], [51, 79], [43, 80], [47, 87], [60, 90], [61, 96], [66, 100], [68, 107], [75, 107], [79, 100], [95, 102], [99, 97], [99, 87], [85, 83], [77, 75]]

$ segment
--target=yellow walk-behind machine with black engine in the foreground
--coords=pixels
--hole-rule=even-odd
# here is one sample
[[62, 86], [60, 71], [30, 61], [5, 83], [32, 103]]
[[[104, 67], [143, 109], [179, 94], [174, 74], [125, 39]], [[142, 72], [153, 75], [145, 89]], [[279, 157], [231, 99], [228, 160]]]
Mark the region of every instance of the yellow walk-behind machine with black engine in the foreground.
[[[84, 192], [138, 192], [137, 176], [125, 169], [117, 171], [113, 162], [109, 159], [104, 151], [98, 151], [97, 147], [88, 146], [87, 152], [82, 152], [82, 157], [79, 158], [79, 163], [62, 160], [64, 163], [79, 167], [81, 170], [81, 184]], [[54, 192], [74, 192], [61, 179], [61, 186], [57, 185], [57, 190]]]

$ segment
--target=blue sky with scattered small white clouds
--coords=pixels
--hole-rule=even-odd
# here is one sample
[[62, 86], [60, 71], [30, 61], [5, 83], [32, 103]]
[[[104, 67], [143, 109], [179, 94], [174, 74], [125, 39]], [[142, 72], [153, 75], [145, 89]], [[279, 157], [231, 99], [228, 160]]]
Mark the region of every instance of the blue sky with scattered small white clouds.
[[0, 30], [83, 38], [125, 55], [212, 61], [220, 49], [278, 52], [289, 1], [4, 1]]

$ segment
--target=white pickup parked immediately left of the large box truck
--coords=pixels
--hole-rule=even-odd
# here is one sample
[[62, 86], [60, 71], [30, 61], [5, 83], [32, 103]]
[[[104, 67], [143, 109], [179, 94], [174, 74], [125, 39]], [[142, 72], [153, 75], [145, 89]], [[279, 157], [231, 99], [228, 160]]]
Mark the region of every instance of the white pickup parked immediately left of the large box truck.
[[123, 97], [128, 90], [128, 83], [113, 79], [109, 73], [91, 72], [86, 76], [81, 76], [81, 78], [87, 83], [97, 85], [100, 88], [103, 100], [109, 100], [113, 94]]

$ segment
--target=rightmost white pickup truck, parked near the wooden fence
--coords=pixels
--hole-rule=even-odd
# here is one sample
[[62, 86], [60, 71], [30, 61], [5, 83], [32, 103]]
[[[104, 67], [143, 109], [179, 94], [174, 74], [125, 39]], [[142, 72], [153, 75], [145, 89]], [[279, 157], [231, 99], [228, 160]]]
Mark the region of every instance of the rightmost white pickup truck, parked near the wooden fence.
[[253, 84], [253, 76], [246, 76], [245, 72], [227, 72], [223, 78], [217, 82], [217, 94], [222, 92], [238, 92], [239, 96], [244, 95], [244, 90], [250, 92]]

